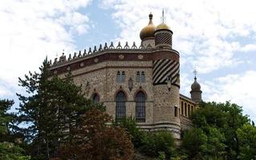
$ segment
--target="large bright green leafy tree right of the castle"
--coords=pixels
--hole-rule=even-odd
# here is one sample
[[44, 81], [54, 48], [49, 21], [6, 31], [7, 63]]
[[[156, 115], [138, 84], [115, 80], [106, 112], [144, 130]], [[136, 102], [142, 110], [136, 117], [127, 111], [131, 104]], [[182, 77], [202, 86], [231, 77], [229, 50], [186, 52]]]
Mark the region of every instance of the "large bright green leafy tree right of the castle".
[[192, 115], [195, 129], [185, 133], [182, 143], [188, 158], [240, 159], [242, 138], [238, 130], [250, 125], [242, 107], [230, 102], [201, 102], [200, 107]]

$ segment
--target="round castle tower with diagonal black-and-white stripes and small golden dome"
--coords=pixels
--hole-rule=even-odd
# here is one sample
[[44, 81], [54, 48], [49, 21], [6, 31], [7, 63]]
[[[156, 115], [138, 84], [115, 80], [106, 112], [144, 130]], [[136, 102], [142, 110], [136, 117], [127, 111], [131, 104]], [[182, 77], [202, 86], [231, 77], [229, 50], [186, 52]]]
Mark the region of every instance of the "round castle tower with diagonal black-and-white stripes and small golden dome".
[[[164, 16], [163, 16], [164, 17]], [[163, 18], [164, 19], [164, 18]], [[152, 82], [154, 88], [154, 128], [170, 130], [180, 138], [180, 63], [172, 49], [172, 30], [163, 21], [155, 30]]]

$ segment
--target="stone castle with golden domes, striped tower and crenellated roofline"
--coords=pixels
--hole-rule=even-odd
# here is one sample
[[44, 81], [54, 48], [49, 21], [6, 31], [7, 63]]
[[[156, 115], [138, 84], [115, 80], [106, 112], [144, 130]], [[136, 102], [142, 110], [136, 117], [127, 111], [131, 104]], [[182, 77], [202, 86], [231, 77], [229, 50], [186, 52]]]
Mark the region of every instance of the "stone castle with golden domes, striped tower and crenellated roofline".
[[[164, 17], [164, 15], [163, 15]], [[181, 138], [190, 127], [189, 115], [201, 101], [201, 86], [194, 78], [191, 98], [180, 94], [180, 54], [173, 50], [173, 31], [163, 22], [140, 31], [140, 46], [100, 45], [51, 64], [51, 74], [63, 78], [71, 71], [87, 98], [102, 102], [116, 120], [132, 116], [144, 130], [170, 130]]]

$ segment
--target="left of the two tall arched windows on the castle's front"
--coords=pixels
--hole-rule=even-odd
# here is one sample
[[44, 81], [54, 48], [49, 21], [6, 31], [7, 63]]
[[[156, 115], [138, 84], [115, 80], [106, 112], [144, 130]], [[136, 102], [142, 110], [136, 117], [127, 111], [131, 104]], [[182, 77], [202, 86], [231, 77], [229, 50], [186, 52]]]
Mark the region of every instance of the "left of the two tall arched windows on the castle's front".
[[125, 116], [125, 94], [120, 91], [116, 94], [116, 119], [124, 118]]

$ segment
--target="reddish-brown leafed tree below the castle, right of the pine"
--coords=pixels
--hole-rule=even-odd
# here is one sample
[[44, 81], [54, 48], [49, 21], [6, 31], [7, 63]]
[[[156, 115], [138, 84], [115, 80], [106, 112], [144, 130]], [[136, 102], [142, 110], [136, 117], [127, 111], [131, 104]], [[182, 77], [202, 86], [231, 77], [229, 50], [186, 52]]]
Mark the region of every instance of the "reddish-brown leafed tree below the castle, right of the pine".
[[71, 130], [72, 137], [59, 149], [61, 159], [129, 160], [133, 157], [131, 138], [124, 129], [112, 126], [112, 118], [91, 108]]

